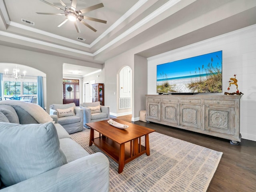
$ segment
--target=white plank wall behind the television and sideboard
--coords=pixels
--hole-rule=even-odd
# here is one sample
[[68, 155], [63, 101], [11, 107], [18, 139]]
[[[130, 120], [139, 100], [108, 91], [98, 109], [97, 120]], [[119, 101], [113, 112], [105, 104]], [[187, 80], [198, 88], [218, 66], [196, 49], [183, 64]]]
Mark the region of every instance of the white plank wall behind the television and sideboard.
[[[242, 138], [256, 141], [256, 25], [148, 58], [148, 94], [156, 93], [156, 65], [222, 50], [223, 93], [236, 74]], [[212, 94], [214, 95], [214, 94]]]

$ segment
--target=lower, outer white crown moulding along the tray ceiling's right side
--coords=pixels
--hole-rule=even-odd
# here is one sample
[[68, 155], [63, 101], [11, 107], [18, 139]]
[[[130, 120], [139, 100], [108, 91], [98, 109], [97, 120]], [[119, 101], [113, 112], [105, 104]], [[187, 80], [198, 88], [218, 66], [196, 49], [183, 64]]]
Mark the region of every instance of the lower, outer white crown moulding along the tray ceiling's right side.
[[162, 12], [166, 11], [167, 9], [169, 9], [170, 7], [174, 6], [175, 4], [177, 4], [178, 2], [180, 2], [181, 0], [170, 0], [168, 2], [166, 2], [164, 5], [162, 5], [160, 8], [156, 9], [154, 12], [152, 12], [151, 14], [149, 14], [148, 16], [146, 16], [144, 19], [140, 20], [138, 23], [136, 23], [134, 26], [132, 26], [131, 28], [129, 28], [128, 30], [126, 30], [125, 32], [123, 32], [122, 34], [120, 34], [119, 36], [117, 36], [116, 38], [114, 38], [112, 41], [110, 41], [108, 44], [104, 45], [102, 48], [98, 49], [96, 52], [93, 53], [94, 56], [96, 56], [97, 54], [99, 54], [100, 52], [104, 51], [105, 49], [107, 49], [108, 47], [112, 46], [113, 44], [115, 44], [116, 42], [120, 41], [122, 38], [128, 36], [130, 33], [134, 32], [135, 30], [137, 30], [138, 28], [140, 28], [141, 26], [143, 26], [144, 24], [148, 23], [150, 20], [154, 19], [156, 16], [160, 15]]

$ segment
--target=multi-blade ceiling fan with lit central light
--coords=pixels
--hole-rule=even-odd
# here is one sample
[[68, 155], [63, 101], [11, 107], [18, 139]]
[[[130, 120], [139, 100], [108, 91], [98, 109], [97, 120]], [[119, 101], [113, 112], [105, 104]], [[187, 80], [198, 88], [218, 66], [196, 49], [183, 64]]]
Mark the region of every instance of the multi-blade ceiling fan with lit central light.
[[62, 16], [66, 16], [66, 19], [61, 22], [58, 27], [62, 26], [63, 24], [65, 24], [68, 20], [70, 21], [73, 21], [74, 22], [74, 25], [76, 27], [76, 31], [78, 33], [80, 33], [80, 29], [78, 27], [78, 24], [76, 21], [79, 21], [80, 23], [84, 24], [85, 26], [87, 26], [88, 28], [90, 28], [91, 30], [93, 30], [94, 32], [96, 32], [97, 30], [95, 28], [93, 28], [92, 26], [90, 26], [88, 23], [86, 23], [83, 19], [86, 19], [86, 20], [91, 20], [91, 21], [96, 21], [96, 22], [101, 22], [101, 23], [107, 23], [107, 21], [105, 20], [101, 20], [101, 19], [96, 19], [96, 18], [92, 18], [92, 17], [88, 17], [88, 16], [84, 16], [82, 14], [84, 13], [87, 13], [87, 12], [90, 12], [92, 10], [95, 10], [95, 9], [98, 9], [98, 8], [102, 8], [104, 7], [103, 3], [100, 3], [100, 4], [96, 4], [96, 5], [93, 5], [93, 6], [90, 6], [90, 7], [87, 7], [87, 8], [84, 8], [84, 9], [80, 9], [80, 10], [76, 10], [76, 2], [77, 0], [70, 0], [71, 1], [71, 8], [68, 8], [68, 6], [66, 6], [66, 4], [60, 0], [60, 3], [62, 4], [62, 6], [65, 8], [59, 8], [57, 6], [55, 6], [54, 4], [51, 4], [45, 0], [40, 0], [64, 13], [38, 13], [37, 14], [43, 14], [43, 15], [62, 15]]

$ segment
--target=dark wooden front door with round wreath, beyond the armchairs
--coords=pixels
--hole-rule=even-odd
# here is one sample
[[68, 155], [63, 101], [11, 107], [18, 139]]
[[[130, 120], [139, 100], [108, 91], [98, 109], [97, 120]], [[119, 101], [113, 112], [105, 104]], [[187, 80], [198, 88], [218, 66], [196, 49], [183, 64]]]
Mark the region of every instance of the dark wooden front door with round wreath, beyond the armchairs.
[[63, 104], [75, 103], [79, 106], [79, 84], [63, 82]]

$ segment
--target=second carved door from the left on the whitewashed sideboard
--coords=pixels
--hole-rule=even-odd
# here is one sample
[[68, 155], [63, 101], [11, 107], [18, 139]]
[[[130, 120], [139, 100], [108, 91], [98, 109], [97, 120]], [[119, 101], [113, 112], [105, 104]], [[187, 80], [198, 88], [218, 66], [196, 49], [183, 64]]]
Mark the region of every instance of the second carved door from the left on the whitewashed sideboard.
[[178, 104], [161, 104], [162, 121], [178, 124]]

